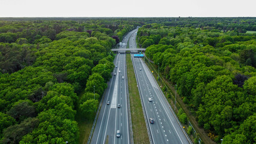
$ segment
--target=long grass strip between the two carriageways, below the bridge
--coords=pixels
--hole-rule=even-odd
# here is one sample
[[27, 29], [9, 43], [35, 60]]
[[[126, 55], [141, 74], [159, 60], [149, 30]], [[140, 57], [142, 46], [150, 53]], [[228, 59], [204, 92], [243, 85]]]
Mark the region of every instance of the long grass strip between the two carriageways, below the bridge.
[[150, 143], [130, 54], [126, 54], [126, 62], [133, 140], [134, 143]]

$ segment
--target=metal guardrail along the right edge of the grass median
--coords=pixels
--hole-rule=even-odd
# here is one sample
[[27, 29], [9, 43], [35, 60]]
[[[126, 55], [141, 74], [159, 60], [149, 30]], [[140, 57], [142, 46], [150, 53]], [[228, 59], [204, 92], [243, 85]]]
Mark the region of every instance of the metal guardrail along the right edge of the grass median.
[[[132, 55], [130, 55], [130, 56], [131, 56], [131, 59], [132, 59]], [[135, 77], [136, 77], [136, 70], [135, 70], [135, 67], [134, 67], [133, 59], [132, 59], [132, 65], [133, 65], [133, 70], [134, 70]], [[137, 77], [136, 77], [136, 81], [137, 81], [137, 83], [139, 82]], [[148, 127], [147, 113], [145, 112], [145, 106], [144, 106], [144, 103], [143, 103], [143, 98], [141, 96], [141, 89], [139, 88], [139, 85], [138, 85], [138, 90], [139, 90], [139, 98], [141, 99], [142, 111], [143, 111], [143, 115], [144, 115], [144, 119], [145, 119], [145, 123], [146, 123], [146, 127], [147, 127], [148, 138], [150, 140], [150, 144], [153, 144], [152, 135], [151, 135], [150, 130], [149, 130], [150, 127]]]

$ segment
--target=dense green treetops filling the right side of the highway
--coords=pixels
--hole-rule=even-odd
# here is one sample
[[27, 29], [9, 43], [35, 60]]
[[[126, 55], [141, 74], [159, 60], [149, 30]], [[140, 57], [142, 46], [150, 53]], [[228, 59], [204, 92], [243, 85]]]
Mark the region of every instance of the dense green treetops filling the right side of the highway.
[[137, 41], [213, 140], [255, 143], [255, 36], [151, 24], [139, 28]]

